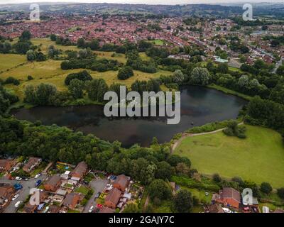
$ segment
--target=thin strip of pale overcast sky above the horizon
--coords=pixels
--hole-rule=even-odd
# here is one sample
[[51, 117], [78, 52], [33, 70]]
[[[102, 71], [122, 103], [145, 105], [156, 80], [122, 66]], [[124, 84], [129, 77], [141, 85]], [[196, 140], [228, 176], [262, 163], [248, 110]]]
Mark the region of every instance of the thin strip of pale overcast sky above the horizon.
[[94, 2], [118, 4], [202, 4], [202, 3], [255, 3], [255, 2], [284, 2], [281, 0], [0, 0], [0, 4], [18, 4], [30, 2]]

